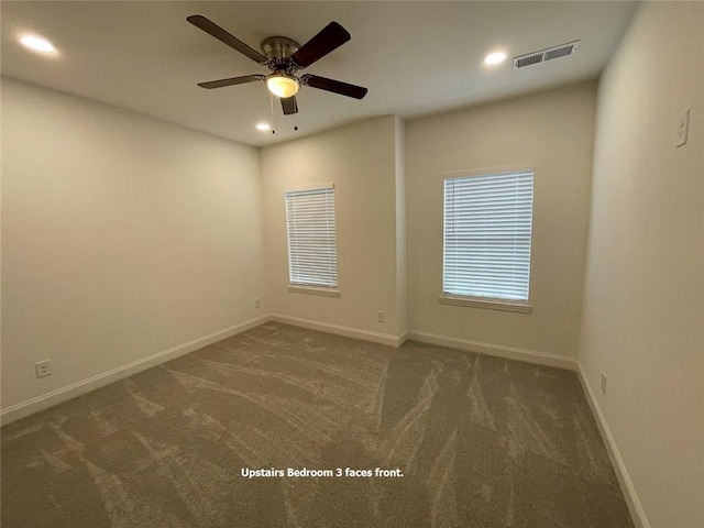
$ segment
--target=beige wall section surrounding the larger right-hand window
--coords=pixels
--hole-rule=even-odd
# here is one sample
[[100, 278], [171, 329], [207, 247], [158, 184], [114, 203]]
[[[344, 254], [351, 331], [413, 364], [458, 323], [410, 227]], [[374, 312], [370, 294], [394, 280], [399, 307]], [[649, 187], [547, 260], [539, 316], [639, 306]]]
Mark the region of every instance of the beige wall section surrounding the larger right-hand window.
[[[576, 358], [595, 90], [580, 84], [406, 124], [410, 330], [524, 359]], [[532, 312], [440, 305], [443, 174], [522, 164], [536, 170]]]

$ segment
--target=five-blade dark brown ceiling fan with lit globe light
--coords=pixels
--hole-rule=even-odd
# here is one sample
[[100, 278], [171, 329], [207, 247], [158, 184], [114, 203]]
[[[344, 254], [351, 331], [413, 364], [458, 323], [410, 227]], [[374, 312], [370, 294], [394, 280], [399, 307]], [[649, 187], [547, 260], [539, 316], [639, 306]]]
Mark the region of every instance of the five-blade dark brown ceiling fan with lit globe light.
[[186, 20], [242, 55], [272, 70], [268, 75], [254, 74], [198, 82], [201, 88], [222, 88], [224, 86], [264, 80], [268, 90], [280, 99], [284, 114], [287, 116], [298, 112], [296, 94], [301, 85], [353, 97], [354, 99], [362, 99], [366, 96], [367, 89], [361, 86], [328, 79], [318, 75], [305, 74], [300, 77], [296, 76], [296, 72], [307, 68], [351, 38], [350, 33], [337, 22], [330, 22], [302, 46], [286, 36], [270, 36], [262, 42], [262, 51], [264, 52], [262, 54], [200, 14], [193, 14]]

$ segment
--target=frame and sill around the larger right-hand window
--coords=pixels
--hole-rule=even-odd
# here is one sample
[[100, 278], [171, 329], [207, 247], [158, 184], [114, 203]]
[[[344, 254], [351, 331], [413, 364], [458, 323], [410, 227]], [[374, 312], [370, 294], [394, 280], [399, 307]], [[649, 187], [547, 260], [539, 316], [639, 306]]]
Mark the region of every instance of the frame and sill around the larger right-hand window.
[[[477, 176], [502, 176], [510, 173], [530, 173], [531, 187], [530, 187], [530, 228], [529, 228], [529, 242], [528, 242], [528, 280], [527, 280], [527, 296], [526, 299], [509, 299], [503, 297], [490, 297], [480, 295], [463, 295], [446, 292], [446, 272], [447, 272], [447, 190], [446, 185], [449, 179], [466, 179]], [[532, 310], [531, 297], [530, 297], [530, 283], [532, 271], [532, 243], [534, 243], [534, 211], [535, 211], [535, 165], [521, 164], [501, 167], [487, 167], [472, 170], [460, 170], [453, 173], [443, 174], [442, 178], [442, 270], [441, 270], [441, 295], [439, 302], [443, 305], [454, 306], [471, 306], [476, 308], [488, 308], [495, 310], [516, 311], [522, 314], [529, 314]]]

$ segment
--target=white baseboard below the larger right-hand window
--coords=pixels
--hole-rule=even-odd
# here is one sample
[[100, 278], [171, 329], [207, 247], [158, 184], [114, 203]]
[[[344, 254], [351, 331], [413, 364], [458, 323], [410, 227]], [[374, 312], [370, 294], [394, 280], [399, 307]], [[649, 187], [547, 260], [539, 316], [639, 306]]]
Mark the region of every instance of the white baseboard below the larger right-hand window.
[[472, 341], [471, 339], [450, 338], [448, 336], [421, 332], [419, 330], [409, 330], [407, 338], [413, 341], [420, 341], [421, 343], [468, 350], [470, 352], [506, 358], [507, 360], [526, 361], [528, 363], [556, 366], [558, 369], [566, 369], [570, 371], [576, 370], [576, 360], [573, 360], [572, 358], [564, 358], [562, 355], [550, 354], [548, 352], [517, 349], [515, 346], [506, 346], [503, 344], [483, 343], [481, 341]]

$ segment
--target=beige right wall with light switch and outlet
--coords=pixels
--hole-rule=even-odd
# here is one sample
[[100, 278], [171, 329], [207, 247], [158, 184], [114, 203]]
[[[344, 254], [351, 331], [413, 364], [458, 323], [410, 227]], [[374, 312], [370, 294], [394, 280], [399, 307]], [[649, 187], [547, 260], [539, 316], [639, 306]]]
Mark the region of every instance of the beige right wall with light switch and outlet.
[[580, 363], [652, 528], [704, 526], [703, 28], [645, 3], [598, 90]]

